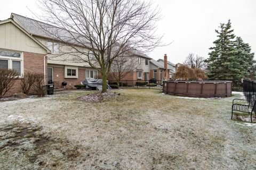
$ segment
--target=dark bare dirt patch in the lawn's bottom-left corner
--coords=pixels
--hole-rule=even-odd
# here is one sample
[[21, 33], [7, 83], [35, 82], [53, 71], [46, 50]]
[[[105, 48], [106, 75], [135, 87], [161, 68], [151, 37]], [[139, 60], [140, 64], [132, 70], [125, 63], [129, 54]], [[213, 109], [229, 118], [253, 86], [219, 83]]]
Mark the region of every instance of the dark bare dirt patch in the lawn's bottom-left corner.
[[81, 146], [66, 139], [43, 133], [41, 126], [20, 122], [0, 126], [0, 167], [3, 169], [71, 168], [84, 159], [81, 150]]

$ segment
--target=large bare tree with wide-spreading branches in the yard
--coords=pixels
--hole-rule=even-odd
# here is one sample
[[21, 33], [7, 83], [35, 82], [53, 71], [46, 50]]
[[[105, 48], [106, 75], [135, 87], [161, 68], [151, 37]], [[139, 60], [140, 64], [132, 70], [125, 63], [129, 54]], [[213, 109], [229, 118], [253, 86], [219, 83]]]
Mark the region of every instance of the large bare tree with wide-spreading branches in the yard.
[[[107, 91], [107, 77], [115, 58], [129, 50], [149, 52], [161, 44], [155, 35], [158, 7], [137, 0], [40, 0], [51, 25], [41, 25], [44, 32], [65, 47], [65, 61], [89, 63], [102, 75], [102, 92]], [[85, 50], [86, 49], [86, 50]], [[70, 57], [72, 56], [72, 57]]]

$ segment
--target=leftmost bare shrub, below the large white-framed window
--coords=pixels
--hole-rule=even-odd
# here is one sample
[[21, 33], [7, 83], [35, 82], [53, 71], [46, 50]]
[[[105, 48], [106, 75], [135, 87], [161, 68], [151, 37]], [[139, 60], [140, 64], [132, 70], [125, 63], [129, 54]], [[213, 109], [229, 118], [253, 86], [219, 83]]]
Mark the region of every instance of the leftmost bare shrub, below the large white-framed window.
[[14, 80], [18, 79], [18, 72], [15, 70], [0, 68], [0, 98], [13, 86]]

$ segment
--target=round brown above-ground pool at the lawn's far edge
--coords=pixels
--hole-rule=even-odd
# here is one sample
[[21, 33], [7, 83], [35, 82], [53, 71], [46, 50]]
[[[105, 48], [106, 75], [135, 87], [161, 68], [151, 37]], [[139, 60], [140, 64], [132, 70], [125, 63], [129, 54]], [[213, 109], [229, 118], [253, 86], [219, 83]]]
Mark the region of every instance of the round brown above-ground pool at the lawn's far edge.
[[163, 93], [188, 97], [231, 96], [232, 81], [163, 81]]

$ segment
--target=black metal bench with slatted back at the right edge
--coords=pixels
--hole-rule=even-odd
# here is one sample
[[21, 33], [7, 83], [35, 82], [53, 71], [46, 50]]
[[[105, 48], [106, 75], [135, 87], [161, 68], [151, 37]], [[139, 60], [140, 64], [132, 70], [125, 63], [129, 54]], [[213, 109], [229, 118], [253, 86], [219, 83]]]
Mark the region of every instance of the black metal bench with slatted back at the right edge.
[[[243, 101], [248, 101], [249, 105], [242, 105], [242, 104], [236, 104], [234, 103], [235, 100], [243, 100]], [[244, 99], [234, 99], [232, 103], [232, 115], [231, 119], [233, 118], [233, 111], [238, 111], [238, 112], [244, 112], [244, 113], [249, 113], [251, 114], [251, 122], [252, 122], [252, 112], [254, 111], [254, 106], [256, 101], [256, 96], [253, 95], [251, 97], [251, 100], [244, 100]]]

